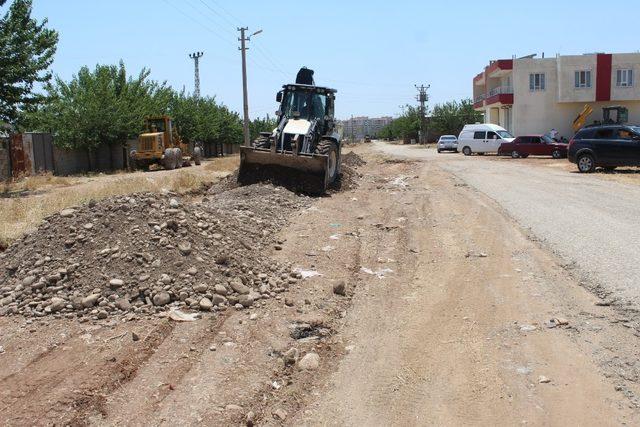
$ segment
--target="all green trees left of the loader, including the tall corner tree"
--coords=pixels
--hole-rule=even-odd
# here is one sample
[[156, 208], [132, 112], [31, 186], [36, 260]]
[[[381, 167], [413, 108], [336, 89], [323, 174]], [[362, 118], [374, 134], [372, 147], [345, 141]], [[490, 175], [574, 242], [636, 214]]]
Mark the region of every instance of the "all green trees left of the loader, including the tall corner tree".
[[[195, 98], [154, 81], [147, 69], [131, 76], [121, 61], [82, 67], [70, 81], [53, 78], [48, 69], [58, 34], [31, 13], [32, 0], [13, 0], [0, 19], [0, 122], [52, 132], [62, 147], [93, 150], [135, 138], [145, 117], [167, 114], [186, 141], [242, 141], [237, 113], [214, 97]], [[43, 93], [34, 91], [38, 84]], [[254, 120], [252, 138], [274, 126], [269, 116]]]

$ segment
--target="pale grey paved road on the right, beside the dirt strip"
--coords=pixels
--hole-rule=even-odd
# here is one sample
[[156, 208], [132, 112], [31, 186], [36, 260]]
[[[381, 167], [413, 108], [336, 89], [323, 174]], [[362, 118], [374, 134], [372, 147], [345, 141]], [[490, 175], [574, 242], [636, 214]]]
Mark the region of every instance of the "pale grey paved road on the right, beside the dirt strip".
[[591, 285], [640, 307], [640, 185], [519, 161], [437, 154], [382, 142], [374, 146], [388, 154], [438, 162], [498, 202], [565, 261], [575, 262]]

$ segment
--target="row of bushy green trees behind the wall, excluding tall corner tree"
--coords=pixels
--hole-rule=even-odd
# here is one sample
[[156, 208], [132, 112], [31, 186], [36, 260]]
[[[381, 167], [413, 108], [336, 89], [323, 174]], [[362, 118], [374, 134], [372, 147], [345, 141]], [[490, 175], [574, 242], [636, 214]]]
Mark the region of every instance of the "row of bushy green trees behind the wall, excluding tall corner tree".
[[142, 132], [144, 118], [167, 114], [185, 141], [242, 140], [237, 113], [213, 97], [195, 98], [149, 79], [149, 70], [128, 76], [125, 65], [80, 69], [70, 82], [56, 77], [46, 86], [46, 102], [26, 115], [31, 130], [55, 134], [57, 145], [94, 149], [121, 143]]

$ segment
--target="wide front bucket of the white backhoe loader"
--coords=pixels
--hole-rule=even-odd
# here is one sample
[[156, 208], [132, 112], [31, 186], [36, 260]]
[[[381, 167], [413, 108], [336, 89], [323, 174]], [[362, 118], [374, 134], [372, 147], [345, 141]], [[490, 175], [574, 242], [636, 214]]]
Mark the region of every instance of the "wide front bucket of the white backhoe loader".
[[324, 155], [240, 147], [238, 182], [242, 185], [271, 182], [292, 191], [318, 195], [327, 189], [327, 165], [328, 157]]

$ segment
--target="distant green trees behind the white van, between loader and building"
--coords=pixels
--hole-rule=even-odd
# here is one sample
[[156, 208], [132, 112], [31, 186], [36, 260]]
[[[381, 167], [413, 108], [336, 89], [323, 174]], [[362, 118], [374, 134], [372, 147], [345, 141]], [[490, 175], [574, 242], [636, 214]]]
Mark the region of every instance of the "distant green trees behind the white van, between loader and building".
[[[428, 116], [429, 134], [432, 136], [457, 135], [464, 125], [482, 120], [482, 113], [473, 109], [473, 102], [470, 99], [436, 104]], [[402, 108], [400, 117], [378, 132], [378, 137], [417, 140], [419, 131], [420, 110], [417, 107], [406, 105]]]

